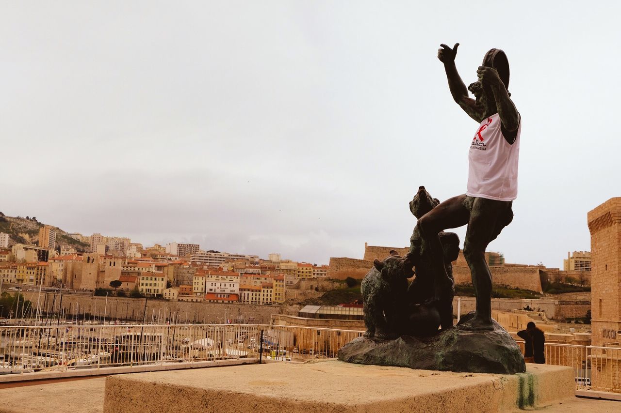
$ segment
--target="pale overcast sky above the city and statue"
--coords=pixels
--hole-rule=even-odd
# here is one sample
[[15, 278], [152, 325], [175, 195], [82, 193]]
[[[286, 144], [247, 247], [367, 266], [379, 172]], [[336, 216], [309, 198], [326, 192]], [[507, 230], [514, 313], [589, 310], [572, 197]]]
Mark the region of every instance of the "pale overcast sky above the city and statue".
[[621, 6], [443, 3], [2, 1], [0, 211], [317, 264], [407, 246], [419, 185], [466, 191], [478, 125], [436, 57], [460, 42], [466, 84], [507, 53], [523, 122], [488, 251], [562, 267], [621, 196]]

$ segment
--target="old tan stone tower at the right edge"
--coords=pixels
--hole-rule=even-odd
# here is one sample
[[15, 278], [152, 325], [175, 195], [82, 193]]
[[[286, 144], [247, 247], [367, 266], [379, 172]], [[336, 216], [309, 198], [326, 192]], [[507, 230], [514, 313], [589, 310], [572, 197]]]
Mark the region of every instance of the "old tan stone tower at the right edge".
[[592, 345], [621, 340], [621, 197], [587, 214], [591, 232]]

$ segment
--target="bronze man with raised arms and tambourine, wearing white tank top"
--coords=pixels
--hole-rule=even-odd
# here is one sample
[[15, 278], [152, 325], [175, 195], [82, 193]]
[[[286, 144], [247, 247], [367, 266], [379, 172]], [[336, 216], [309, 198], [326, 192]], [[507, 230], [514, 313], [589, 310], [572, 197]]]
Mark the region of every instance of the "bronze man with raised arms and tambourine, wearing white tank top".
[[[479, 123], [471, 135], [468, 188], [465, 194], [445, 200], [422, 216], [417, 226], [430, 247], [438, 281], [444, 291], [451, 291], [453, 283], [446, 275], [438, 233], [468, 224], [463, 253], [472, 275], [476, 311], [463, 328], [491, 330], [492, 275], [485, 260], [485, 249], [513, 218], [511, 205], [517, 197], [521, 122], [507, 91], [509, 62], [504, 52], [488, 51], [483, 66], [477, 70], [478, 81], [466, 89], [455, 67], [458, 46], [459, 43], [455, 43], [451, 49], [440, 45], [438, 59], [444, 63], [453, 99]], [[468, 96], [468, 91], [475, 99]]]

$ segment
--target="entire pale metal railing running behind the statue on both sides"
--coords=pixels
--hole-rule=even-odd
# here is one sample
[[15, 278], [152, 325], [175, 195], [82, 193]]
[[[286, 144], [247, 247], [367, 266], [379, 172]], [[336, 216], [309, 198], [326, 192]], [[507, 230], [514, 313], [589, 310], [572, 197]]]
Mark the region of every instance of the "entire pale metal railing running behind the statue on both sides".
[[[337, 357], [362, 331], [265, 324], [0, 326], [0, 373]], [[517, 341], [524, 351], [524, 342]], [[546, 343], [546, 364], [574, 369], [577, 389], [621, 393], [621, 347]]]

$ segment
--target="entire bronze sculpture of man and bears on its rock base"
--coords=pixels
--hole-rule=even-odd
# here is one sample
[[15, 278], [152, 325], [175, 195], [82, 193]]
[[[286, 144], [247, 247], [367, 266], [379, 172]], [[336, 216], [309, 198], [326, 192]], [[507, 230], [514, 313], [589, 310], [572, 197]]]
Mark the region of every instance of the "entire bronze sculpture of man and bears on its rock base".
[[[455, 67], [458, 46], [441, 45], [438, 59], [444, 63], [453, 99], [479, 122], [470, 143], [467, 192], [440, 202], [419, 187], [410, 202], [418, 220], [409, 252], [401, 258], [391, 251], [366, 275], [361, 292], [367, 332], [338, 350], [339, 360], [478, 373], [526, 369], [515, 340], [492, 320], [492, 277], [485, 260], [487, 244], [512, 221], [517, 197], [520, 115], [507, 91], [509, 62], [502, 50], [488, 51], [477, 70], [478, 81], [466, 88]], [[452, 328], [451, 262], [459, 254], [460, 241], [444, 229], [465, 224], [463, 251], [476, 311]], [[413, 275], [408, 286], [405, 278]]]

